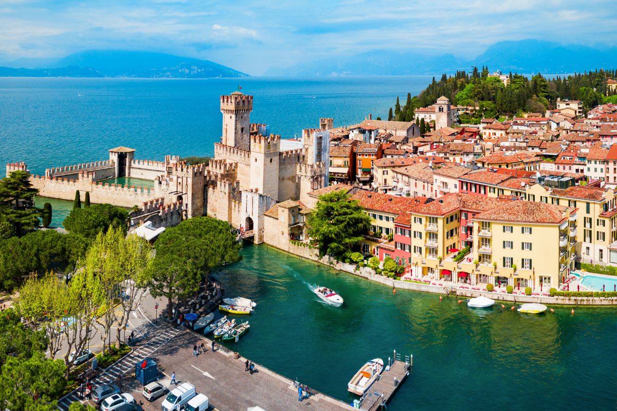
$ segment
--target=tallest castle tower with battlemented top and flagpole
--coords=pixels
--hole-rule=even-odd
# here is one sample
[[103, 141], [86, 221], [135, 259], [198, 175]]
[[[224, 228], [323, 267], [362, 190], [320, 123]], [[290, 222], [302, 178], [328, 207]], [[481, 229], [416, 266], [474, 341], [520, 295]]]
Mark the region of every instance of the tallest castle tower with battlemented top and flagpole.
[[253, 96], [246, 96], [239, 91], [230, 96], [221, 96], [221, 113], [223, 113], [222, 142], [231, 147], [251, 150], [251, 112]]

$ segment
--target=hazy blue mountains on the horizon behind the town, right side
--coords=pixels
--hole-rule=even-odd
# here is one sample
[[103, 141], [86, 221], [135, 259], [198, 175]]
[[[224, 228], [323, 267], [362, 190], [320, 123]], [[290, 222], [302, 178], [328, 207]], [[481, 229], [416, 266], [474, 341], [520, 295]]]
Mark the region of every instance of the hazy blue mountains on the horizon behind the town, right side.
[[617, 47], [595, 49], [576, 44], [559, 44], [534, 39], [500, 41], [474, 59], [452, 54], [426, 55], [374, 50], [348, 57], [302, 62], [287, 68], [270, 68], [270, 76], [368, 76], [441, 75], [487, 65], [503, 73], [574, 73], [595, 68], [617, 67]]

